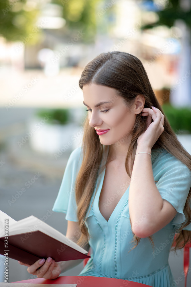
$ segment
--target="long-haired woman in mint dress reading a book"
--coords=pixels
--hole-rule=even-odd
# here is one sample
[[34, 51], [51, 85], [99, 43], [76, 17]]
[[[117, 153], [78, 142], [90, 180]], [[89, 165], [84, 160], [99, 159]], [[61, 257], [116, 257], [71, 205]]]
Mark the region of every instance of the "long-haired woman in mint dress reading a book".
[[[176, 248], [191, 239], [191, 156], [137, 57], [102, 53], [86, 65], [79, 86], [88, 108], [83, 143], [70, 154], [53, 207], [66, 213], [66, 236], [91, 247], [79, 275], [169, 287], [175, 231]], [[81, 261], [27, 266], [54, 279]]]

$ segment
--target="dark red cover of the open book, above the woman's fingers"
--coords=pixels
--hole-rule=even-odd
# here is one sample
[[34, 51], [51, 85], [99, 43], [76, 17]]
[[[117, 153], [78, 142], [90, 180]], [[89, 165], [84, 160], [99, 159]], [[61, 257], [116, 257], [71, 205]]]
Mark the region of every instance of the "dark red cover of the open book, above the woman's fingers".
[[29, 265], [40, 258], [51, 257], [57, 262], [90, 257], [39, 230], [9, 236], [8, 248], [5, 248], [4, 237], [1, 237], [0, 254], [5, 252], [10, 258]]

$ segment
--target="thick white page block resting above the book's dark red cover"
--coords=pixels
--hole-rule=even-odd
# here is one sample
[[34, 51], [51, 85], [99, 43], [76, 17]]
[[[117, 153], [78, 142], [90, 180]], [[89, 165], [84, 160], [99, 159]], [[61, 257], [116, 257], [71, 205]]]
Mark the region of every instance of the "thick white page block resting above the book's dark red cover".
[[67, 238], [64, 234], [33, 215], [9, 224], [9, 236], [35, 230], [39, 230], [83, 254], [88, 253], [88, 251]]

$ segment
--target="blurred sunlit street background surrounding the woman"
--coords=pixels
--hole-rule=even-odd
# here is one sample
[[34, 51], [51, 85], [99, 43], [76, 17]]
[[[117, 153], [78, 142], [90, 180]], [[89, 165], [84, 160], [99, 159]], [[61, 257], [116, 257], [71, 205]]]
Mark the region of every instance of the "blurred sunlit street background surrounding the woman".
[[[1, 1], [0, 210], [15, 220], [34, 215], [66, 234], [65, 214], [46, 214], [70, 153], [81, 145], [86, 111], [78, 80], [102, 52], [124, 51], [142, 61], [191, 154], [190, 28], [190, 0]], [[183, 251], [171, 253], [169, 262], [176, 284], [184, 286]], [[0, 282], [4, 267], [1, 257]], [[31, 278], [27, 267], [9, 259], [9, 282]]]

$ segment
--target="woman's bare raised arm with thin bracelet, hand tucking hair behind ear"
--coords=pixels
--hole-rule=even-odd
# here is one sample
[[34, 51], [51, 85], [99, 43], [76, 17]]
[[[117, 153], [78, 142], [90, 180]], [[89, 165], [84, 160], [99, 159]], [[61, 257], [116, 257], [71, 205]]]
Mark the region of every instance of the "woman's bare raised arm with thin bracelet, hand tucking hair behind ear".
[[151, 154], [151, 148], [164, 131], [164, 115], [157, 108], [143, 108], [142, 116], [147, 115], [147, 130], [137, 139], [136, 153], [140, 154], [135, 157], [129, 186], [132, 231], [141, 238], [162, 229], [177, 213], [167, 200], [162, 199], [155, 185], [151, 156], [147, 154]]

